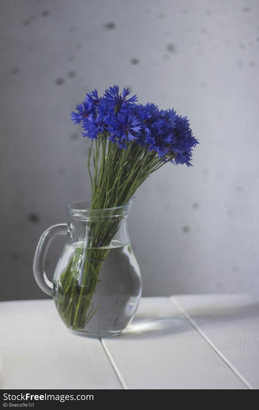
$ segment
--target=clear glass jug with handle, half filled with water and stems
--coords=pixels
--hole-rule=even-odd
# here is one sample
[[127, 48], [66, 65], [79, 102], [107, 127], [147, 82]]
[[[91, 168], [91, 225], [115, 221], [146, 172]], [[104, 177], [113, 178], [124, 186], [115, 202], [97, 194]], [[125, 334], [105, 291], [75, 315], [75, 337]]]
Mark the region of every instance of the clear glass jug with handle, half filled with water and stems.
[[[91, 210], [90, 201], [67, 206], [69, 222], [48, 228], [35, 257], [34, 277], [53, 296], [68, 329], [87, 337], [115, 336], [131, 322], [141, 297], [140, 269], [128, 237], [126, 205]], [[66, 244], [48, 280], [44, 266], [50, 242], [66, 235]]]

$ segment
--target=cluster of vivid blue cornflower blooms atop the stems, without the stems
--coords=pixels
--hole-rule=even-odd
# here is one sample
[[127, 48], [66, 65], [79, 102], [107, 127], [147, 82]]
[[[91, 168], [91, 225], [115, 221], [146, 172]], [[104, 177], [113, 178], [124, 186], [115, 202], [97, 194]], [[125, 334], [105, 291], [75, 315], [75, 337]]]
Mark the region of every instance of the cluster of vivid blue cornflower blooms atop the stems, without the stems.
[[82, 123], [83, 136], [92, 140], [103, 134], [118, 148], [125, 149], [127, 143], [135, 141], [163, 161], [171, 159], [175, 164], [190, 166], [192, 149], [198, 141], [187, 118], [178, 116], [173, 109], [159, 110], [154, 103], [137, 105], [137, 96], [128, 98], [129, 94], [125, 88], [119, 93], [119, 87], [114, 85], [98, 98], [95, 89], [77, 105], [72, 120]]

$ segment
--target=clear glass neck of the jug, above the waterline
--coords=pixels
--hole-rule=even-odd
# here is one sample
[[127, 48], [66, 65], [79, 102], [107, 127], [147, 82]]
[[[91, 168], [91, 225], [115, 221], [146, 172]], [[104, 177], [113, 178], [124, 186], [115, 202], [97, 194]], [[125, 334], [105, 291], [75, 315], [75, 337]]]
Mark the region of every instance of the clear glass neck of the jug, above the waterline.
[[69, 215], [69, 244], [85, 248], [109, 248], [129, 243], [127, 216], [132, 201], [101, 210], [92, 210], [90, 201], [67, 206]]

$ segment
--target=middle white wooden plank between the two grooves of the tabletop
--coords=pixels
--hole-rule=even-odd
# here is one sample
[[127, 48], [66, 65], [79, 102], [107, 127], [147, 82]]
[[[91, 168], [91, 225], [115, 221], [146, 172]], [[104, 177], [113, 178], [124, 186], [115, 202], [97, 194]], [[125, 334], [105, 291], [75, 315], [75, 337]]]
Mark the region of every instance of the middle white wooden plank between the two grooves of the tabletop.
[[102, 339], [129, 389], [246, 389], [169, 298], [143, 298], [131, 325]]

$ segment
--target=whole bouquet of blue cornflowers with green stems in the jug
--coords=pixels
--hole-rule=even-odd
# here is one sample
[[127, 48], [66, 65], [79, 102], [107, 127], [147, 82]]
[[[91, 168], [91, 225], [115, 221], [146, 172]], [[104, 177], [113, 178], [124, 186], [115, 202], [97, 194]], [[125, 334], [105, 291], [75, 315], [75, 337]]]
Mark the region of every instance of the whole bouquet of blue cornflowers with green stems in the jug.
[[[160, 110], [153, 103], [137, 104], [137, 96], [129, 98], [129, 94], [125, 88], [119, 93], [114, 85], [99, 98], [95, 89], [71, 114], [72, 121], [81, 124], [83, 137], [91, 139], [88, 172], [92, 210], [126, 204], [142, 182], [167, 162], [190, 166], [192, 149], [198, 144], [186, 117], [173, 109]], [[60, 294], [66, 298], [56, 301], [65, 323], [77, 329], [84, 328], [95, 313], [91, 300], [101, 260], [107, 256], [105, 247], [118, 226], [107, 221], [105, 226], [95, 224], [91, 229], [95, 230], [91, 236], [95, 243], [77, 249], [60, 279]], [[85, 263], [79, 288], [74, 266], [82, 258]]]

